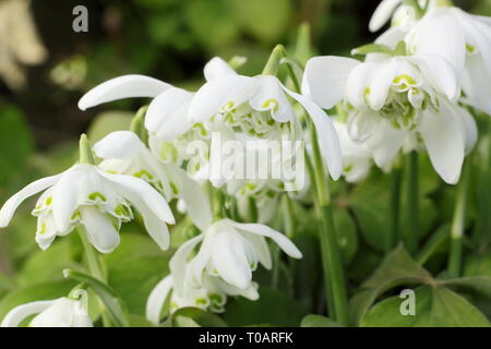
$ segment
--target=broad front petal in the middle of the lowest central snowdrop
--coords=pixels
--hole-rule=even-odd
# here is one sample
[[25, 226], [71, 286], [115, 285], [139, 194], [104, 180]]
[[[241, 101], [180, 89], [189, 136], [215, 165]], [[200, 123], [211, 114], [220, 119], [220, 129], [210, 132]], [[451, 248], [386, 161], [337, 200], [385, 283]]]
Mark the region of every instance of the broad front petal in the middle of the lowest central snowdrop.
[[249, 288], [252, 272], [238, 233], [232, 231], [218, 233], [212, 249], [213, 266], [219, 276], [240, 289]]

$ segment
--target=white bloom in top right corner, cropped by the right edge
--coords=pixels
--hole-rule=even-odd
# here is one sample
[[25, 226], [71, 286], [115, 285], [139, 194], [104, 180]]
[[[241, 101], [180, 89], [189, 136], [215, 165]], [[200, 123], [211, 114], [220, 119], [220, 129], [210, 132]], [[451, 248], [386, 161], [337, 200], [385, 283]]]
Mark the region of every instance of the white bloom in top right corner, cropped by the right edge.
[[[382, 1], [370, 28], [380, 29], [400, 2]], [[491, 68], [487, 64], [491, 60], [490, 17], [468, 14], [450, 1], [433, 0], [419, 21], [410, 21], [404, 27], [393, 26], [378, 43], [394, 47], [403, 39], [410, 53], [438, 55], [448, 60], [462, 80], [462, 100], [491, 113]]]

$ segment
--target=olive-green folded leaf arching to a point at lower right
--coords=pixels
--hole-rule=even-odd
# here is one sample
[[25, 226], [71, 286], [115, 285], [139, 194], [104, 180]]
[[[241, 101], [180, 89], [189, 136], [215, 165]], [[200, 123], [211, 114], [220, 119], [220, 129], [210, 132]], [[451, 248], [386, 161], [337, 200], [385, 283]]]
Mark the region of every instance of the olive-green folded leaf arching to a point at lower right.
[[433, 282], [430, 273], [412, 261], [402, 245], [397, 246], [351, 298], [349, 304], [351, 324], [358, 325], [382, 293], [402, 285], [427, 282]]

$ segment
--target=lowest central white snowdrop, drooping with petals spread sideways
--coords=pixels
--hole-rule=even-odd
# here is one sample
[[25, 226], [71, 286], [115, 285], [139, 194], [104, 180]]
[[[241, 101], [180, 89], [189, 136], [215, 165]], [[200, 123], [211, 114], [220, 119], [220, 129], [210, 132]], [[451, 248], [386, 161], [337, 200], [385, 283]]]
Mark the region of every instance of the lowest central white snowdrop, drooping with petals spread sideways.
[[[219, 277], [238, 289], [247, 290], [252, 282], [252, 272], [261, 263], [272, 267], [270, 249], [265, 238], [271, 238], [289, 256], [300, 258], [301, 252], [283, 233], [261, 224], [239, 224], [221, 219], [212, 224], [203, 233], [183, 243], [170, 261], [173, 288], [178, 294], [184, 291], [185, 268], [197, 285], [204, 275]], [[192, 257], [195, 248], [199, 252]]]

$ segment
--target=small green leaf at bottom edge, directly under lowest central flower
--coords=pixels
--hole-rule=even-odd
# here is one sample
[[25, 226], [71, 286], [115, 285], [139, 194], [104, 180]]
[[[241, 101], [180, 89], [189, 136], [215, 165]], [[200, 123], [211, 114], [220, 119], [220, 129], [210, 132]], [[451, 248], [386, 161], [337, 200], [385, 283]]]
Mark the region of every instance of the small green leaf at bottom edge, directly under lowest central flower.
[[218, 315], [205, 312], [199, 308], [181, 308], [167, 318], [164, 326], [172, 327], [227, 327]]

